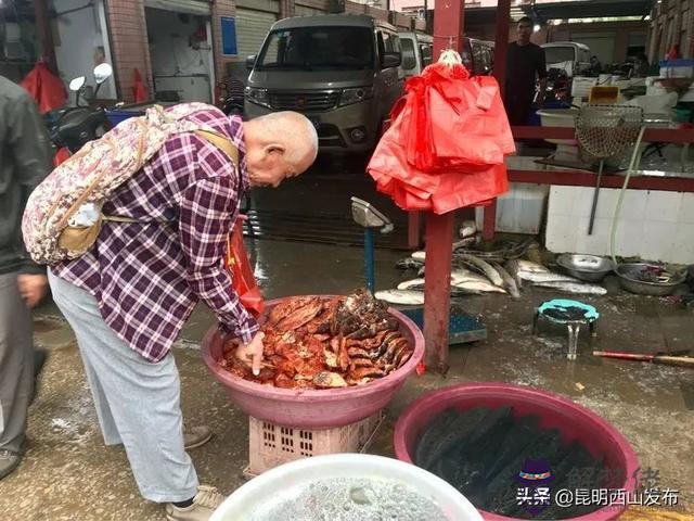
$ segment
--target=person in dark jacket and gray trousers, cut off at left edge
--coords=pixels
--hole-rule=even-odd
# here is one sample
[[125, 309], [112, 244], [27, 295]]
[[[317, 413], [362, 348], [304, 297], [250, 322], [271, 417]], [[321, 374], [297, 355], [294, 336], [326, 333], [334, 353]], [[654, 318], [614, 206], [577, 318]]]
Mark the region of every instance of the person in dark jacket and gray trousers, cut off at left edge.
[[0, 480], [25, 449], [35, 384], [31, 308], [46, 295], [46, 268], [22, 241], [27, 199], [51, 167], [51, 148], [36, 104], [0, 76]]

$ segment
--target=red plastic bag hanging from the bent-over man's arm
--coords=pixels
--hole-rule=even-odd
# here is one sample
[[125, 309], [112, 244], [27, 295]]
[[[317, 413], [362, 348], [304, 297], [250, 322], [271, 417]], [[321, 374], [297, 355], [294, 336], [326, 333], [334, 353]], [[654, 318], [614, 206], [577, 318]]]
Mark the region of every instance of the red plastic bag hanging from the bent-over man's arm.
[[244, 217], [241, 217], [236, 220], [232, 232], [227, 238], [224, 266], [231, 274], [231, 284], [241, 303], [254, 317], [258, 318], [265, 310], [265, 301], [253, 276], [246, 246], [243, 244], [243, 226], [241, 226], [243, 219]]

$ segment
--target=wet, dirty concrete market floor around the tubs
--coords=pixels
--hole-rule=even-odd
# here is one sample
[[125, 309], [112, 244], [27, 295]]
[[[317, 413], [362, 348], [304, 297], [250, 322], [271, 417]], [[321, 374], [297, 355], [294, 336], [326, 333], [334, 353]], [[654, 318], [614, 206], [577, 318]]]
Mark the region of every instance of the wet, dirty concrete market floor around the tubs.
[[[252, 249], [267, 297], [345, 293], [362, 282], [357, 247], [258, 241]], [[403, 276], [394, 269], [401, 254], [376, 255], [376, 285], [393, 287]], [[692, 346], [692, 310], [664, 300], [620, 292], [586, 298], [602, 313], [593, 347], [653, 352]], [[453, 346], [446, 378], [412, 377], [388, 408], [388, 419], [370, 452], [393, 455], [394, 420], [423, 392], [468, 381], [502, 381], [566, 395], [613, 423], [631, 443], [643, 468], [659, 472], [660, 486], [680, 491], [681, 512], [694, 513], [694, 373], [691, 369], [594, 358], [586, 338], [576, 363], [565, 357], [566, 333], [542, 329], [531, 335], [534, 307], [555, 296], [527, 291], [519, 301], [504, 295], [460, 301], [483, 318], [488, 340]], [[69, 327], [50, 303], [36, 313], [36, 343], [51, 352], [30, 409], [29, 449], [18, 470], [0, 481], [3, 520], [164, 519], [158, 505], [140, 498], [121, 447], [103, 445], [89, 389]], [[191, 452], [201, 482], [232, 493], [247, 463], [247, 417], [211, 379], [198, 350], [214, 325], [204, 308], [191, 317], [175, 350], [187, 421], [215, 431], [207, 445]], [[632, 518], [633, 519], [633, 518]], [[643, 519], [650, 519], [644, 517]]]

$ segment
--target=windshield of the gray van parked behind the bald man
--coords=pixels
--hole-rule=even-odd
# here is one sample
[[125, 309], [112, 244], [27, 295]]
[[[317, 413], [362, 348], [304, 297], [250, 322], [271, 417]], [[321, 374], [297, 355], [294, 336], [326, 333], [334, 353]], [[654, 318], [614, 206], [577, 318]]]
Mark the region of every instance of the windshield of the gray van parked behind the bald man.
[[258, 68], [373, 68], [373, 31], [367, 27], [298, 27], [270, 33]]

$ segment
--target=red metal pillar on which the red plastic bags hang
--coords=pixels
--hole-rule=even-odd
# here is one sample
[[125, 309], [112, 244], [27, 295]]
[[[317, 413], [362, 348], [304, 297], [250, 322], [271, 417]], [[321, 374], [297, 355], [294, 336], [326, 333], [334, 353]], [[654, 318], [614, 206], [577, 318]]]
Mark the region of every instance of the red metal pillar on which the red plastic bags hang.
[[[434, 14], [434, 56], [449, 46], [461, 51], [464, 0], [437, 2]], [[440, 373], [448, 370], [451, 253], [454, 213], [426, 217], [426, 277], [424, 287], [424, 341], [426, 365]]]

